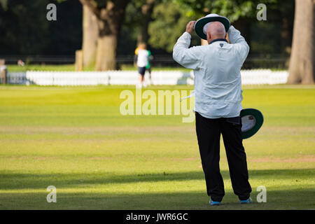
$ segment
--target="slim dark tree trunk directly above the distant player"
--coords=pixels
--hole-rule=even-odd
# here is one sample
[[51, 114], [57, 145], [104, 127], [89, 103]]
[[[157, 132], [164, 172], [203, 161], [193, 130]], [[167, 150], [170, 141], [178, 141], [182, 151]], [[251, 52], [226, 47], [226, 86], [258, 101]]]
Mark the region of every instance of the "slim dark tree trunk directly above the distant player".
[[138, 45], [140, 43], [148, 44], [148, 25], [152, 21], [153, 8], [155, 6], [155, 0], [146, 0], [146, 3], [141, 6], [142, 22], [140, 25], [140, 31], [137, 37]]

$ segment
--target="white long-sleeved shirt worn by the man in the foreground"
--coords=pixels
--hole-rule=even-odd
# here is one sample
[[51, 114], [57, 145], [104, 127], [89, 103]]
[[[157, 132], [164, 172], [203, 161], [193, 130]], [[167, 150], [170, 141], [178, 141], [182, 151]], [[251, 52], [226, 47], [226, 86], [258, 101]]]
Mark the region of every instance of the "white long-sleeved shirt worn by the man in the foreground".
[[233, 26], [228, 34], [231, 43], [219, 39], [189, 48], [191, 36], [185, 32], [174, 45], [174, 60], [194, 70], [195, 111], [205, 118], [233, 118], [242, 109], [240, 71], [249, 46]]

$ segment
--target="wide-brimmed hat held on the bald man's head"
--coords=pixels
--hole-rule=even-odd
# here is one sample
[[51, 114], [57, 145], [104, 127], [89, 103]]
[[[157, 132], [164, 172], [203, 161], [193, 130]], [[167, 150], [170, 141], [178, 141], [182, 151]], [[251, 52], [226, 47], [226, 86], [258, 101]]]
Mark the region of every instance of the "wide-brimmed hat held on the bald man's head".
[[196, 34], [204, 40], [207, 40], [207, 27], [210, 22], [221, 22], [225, 27], [225, 31], [230, 29], [230, 20], [228, 20], [228, 18], [214, 13], [208, 14], [195, 23]]

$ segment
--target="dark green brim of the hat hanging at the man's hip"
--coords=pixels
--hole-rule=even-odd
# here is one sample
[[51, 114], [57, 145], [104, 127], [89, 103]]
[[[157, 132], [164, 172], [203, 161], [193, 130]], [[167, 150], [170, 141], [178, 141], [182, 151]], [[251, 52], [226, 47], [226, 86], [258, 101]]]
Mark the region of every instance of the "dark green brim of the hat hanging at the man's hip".
[[248, 139], [252, 137], [260, 127], [262, 126], [262, 123], [264, 123], [264, 117], [262, 116], [262, 113], [258, 111], [257, 109], [243, 109], [240, 113], [241, 118], [244, 116], [253, 116], [255, 118], [255, 125], [246, 132], [241, 132], [242, 139]]

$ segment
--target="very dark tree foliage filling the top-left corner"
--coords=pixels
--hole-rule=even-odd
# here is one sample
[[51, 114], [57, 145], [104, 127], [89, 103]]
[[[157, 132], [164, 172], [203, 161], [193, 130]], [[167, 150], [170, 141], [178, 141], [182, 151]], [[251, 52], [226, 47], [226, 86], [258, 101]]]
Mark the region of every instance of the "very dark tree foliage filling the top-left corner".
[[[57, 21], [46, 19], [48, 3], [56, 4]], [[78, 0], [0, 0], [0, 54], [72, 55], [81, 45], [80, 7]]]

